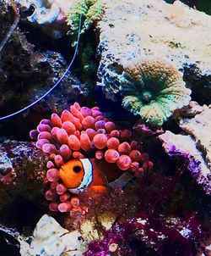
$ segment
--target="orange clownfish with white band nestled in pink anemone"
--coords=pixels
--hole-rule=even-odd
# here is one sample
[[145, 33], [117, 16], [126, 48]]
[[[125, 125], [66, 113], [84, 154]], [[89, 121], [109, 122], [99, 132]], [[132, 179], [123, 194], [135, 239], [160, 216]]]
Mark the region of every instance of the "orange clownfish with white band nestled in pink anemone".
[[109, 182], [122, 175], [116, 164], [98, 159], [73, 159], [62, 164], [59, 176], [69, 192], [78, 194], [90, 187], [95, 192], [106, 192]]

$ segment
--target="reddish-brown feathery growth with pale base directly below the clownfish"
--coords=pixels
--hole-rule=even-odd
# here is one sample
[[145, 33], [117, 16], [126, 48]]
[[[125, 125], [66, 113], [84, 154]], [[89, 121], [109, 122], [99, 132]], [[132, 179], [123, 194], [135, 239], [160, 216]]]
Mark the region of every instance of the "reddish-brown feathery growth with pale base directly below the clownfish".
[[86, 207], [89, 211], [84, 215], [71, 211], [70, 215], [64, 216], [64, 226], [68, 230], [79, 229], [88, 242], [103, 239], [116, 219], [125, 221], [133, 218], [137, 213], [139, 206], [137, 189], [138, 186], [130, 182], [124, 188], [114, 186], [110, 192], [100, 198], [92, 198], [87, 193], [78, 195], [81, 207]]

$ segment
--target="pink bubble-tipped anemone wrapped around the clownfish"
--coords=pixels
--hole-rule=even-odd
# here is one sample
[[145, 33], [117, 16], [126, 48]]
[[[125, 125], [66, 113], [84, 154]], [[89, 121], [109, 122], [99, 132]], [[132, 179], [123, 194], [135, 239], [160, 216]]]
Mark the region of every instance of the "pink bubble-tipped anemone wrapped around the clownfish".
[[62, 164], [71, 159], [106, 160], [116, 164], [122, 174], [129, 170], [136, 176], [153, 168], [149, 154], [140, 151], [132, 132], [117, 130], [116, 125], [104, 117], [98, 107], [81, 108], [74, 103], [61, 116], [54, 113], [51, 120], [41, 120], [37, 129], [30, 131], [30, 137], [37, 139], [36, 147], [49, 153], [51, 158], [46, 164], [46, 178], [50, 183], [46, 200], [51, 201], [51, 211], [85, 212], [79, 208], [78, 198], [62, 183], [59, 175]]

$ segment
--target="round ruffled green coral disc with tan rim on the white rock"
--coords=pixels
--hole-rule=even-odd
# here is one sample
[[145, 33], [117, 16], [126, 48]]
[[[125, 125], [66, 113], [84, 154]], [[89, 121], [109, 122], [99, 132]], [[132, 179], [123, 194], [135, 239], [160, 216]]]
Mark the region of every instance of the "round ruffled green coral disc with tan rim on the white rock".
[[135, 59], [123, 68], [122, 105], [151, 125], [162, 125], [191, 100], [191, 90], [172, 64], [160, 59]]

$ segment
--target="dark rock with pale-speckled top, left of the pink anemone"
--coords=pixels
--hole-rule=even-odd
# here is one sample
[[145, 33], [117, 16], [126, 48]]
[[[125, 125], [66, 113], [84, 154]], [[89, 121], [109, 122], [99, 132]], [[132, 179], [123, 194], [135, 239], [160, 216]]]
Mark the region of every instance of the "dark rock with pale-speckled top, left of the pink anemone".
[[2, 223], [9, 220], [9, 225], [22, 229], [23, 226], [33, 225], [40, 217], [42, 208], [44, 209], [42, 193], [46, 161], [46, 154], [39, 152], [33, 142], [13, 141], [0, 145]]

